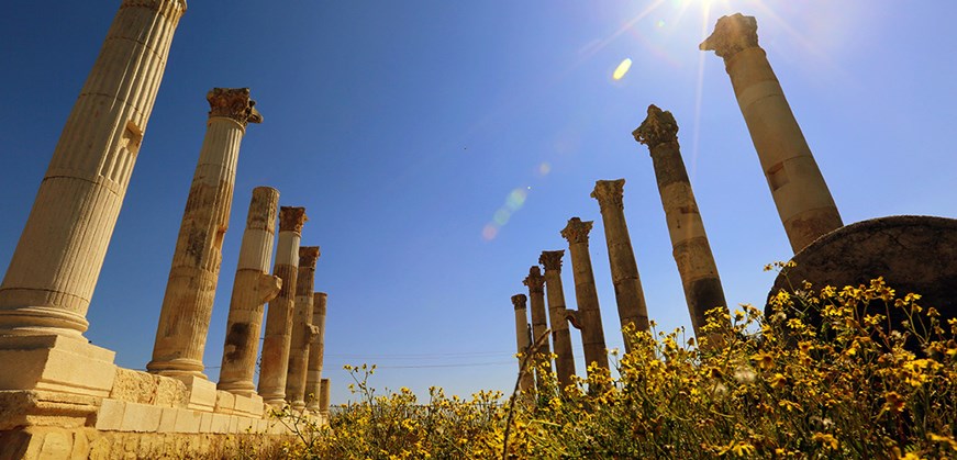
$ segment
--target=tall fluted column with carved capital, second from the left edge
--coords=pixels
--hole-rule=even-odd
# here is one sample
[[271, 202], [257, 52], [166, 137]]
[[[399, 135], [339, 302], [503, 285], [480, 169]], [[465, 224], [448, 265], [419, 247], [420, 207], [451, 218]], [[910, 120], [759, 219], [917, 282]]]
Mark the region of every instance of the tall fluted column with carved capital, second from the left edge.
[[207, 100], [205, 138], [173, 253], [153, 360], [146, 364], [149, 372], [167, 377], [205, 379], [202, 355], [230, 225], [240, 144], [246, 125], [263, 121], [248, 88], [214, 88]]

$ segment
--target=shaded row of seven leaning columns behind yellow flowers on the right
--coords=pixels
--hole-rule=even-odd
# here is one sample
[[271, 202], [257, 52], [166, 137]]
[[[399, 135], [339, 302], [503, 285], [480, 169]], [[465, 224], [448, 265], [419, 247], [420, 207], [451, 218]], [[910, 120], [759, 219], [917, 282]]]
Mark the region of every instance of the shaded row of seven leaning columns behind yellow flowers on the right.
[[[714, 51], [724, 58], [742, 114], [794, 253], [843, 226], [837, 206], [791, 113], [777, 77], [764, 49], [758, 46], [757, 23], [754, 18], [735, 14], [720, 19], [714, 33], [701, 44], [701, 49]], [[685, 161], [681, 159], [678, 123], [670, 112], [650, 105], [647, 117], [632, 134], [650, 153], [688, 311], [696, 336], [701, 340], [706, 336], [703, 332], [705, 312], [714, 307], [724, 308], [726, 312], [727, 306], [704, 224]], [[623, 212], [624, 183], [624, 179], [597, 181], [591, 197], [598, 200], [601, 209], [621, 326], [623, 330], [631, 327], [648, 330], [647, 306]], [[560, 232], [568, 240], [571, 251], [577, 311], [566, 307], [561, 292], [564, 251], [542, 253], [538, 261], [545, 267], [544, 279], [537, 266], [532, 267], [525, 279], [532, 299], [532, 337], [535, 338], [547, 330], [542, 285], [547, 288], [550, 313], [548, 318], [557, 357], [555, 369], [563, 388], [571, 382], [575, 373], [566, 319], [581, 330], [589, 370], [593, 369], [592, 366], [608, 368], [598, 293], [588, 251], [588, 234], [591, 227], [592, 222], [572, 217]], [[530, 352], [533, 340], [526, 333], [525, 295], [512, 296], [512, 303], [515, 307], [519, 352], [526, 354]], [[632, 344], [627, 334], [624, 338], [627, 351]], [[703, 344], [720, 346], [716, 337], [711, 337]], [[534, 351], [539, 354], [539, 361], [547, 359], [547, 341]], [[533, 386], [531, 374], [527, 378], [523, 375], [521, 382], [523, 391]]]

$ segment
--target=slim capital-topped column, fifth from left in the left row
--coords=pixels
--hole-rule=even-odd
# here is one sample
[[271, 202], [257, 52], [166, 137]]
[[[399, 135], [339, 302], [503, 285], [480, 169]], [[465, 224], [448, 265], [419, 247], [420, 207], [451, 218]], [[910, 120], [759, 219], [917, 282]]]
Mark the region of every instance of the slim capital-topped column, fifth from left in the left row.
[[289, 370], [286, 374], [286, 401], [292, 408], [305, 408], [305, 372], [309, 368], [309, 346], [316, 335], [312, 324], [315, 310], [313, 287], [315, 285], [315, 261], [319, 246], [299, 248], [299, 274], [296, 277], [296, 306], [292, 312], [292, 337], [289, 345]]

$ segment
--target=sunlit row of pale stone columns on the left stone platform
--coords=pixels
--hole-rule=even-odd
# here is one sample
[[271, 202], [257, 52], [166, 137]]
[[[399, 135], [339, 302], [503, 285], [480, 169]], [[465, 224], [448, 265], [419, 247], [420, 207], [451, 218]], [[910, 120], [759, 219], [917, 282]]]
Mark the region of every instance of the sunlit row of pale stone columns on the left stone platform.
[[[122, 1], [41, 182], [0, 284], [0, 393], [23, 399], [19, 416], [84, 419], [99, 405], [96, 399], [110, 394], [114, 352], [84, 337], [86, 314], [185, 11], [185, 0]], [[179, 379], [190, 390], [215, 391], [203, 374], [202, 356], [240, 145], [248, 124], [260, 123], [261, 116], [247, 88], [215, 88], [207, 99], [207, 132], [147, 370]], [[253, 191], [220, 389], [255, 394], [259, 332], [269, 302], [259, 393], [272, 405], [289, 402], [300, 411], [308, 395], [318, 395], [308, 408], [321, 412], [327, 408], [329, 381], [322, 379], [326, 295], [313, 292], [319, 248], [299, 245], [304, 210], [279, 209], [278, 200], [275, 189]]]

